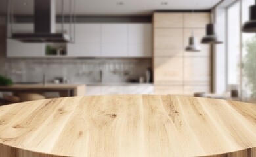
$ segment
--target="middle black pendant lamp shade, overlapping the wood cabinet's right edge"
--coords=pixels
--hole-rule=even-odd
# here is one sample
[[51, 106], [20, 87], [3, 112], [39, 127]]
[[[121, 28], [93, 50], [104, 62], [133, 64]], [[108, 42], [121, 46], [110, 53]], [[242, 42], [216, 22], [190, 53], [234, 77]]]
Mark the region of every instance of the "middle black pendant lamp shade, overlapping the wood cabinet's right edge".
[[215, 34], [215, 25], [207, 24], [206, 26], [206, 36], [201, 40], [202, 44], [222, 44], [222, 41], [218, 40], [217, 35]]

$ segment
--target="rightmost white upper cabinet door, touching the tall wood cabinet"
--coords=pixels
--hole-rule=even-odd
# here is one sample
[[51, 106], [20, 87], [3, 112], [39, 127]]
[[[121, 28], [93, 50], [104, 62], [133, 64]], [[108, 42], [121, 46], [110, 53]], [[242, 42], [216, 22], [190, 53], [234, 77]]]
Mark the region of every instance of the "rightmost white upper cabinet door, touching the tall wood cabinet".
[[128, 25], [128, 56], [152, 56], [152, 24]]

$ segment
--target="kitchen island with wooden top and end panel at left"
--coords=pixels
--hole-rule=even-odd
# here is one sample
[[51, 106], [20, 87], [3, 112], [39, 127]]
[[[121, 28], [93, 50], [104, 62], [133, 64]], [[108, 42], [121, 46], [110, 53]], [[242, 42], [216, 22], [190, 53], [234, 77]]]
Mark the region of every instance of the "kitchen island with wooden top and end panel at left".
[[85, 84], [14, 84], [0, 86], [0, 92], [58, 92], [60, 97], [85, 96]]

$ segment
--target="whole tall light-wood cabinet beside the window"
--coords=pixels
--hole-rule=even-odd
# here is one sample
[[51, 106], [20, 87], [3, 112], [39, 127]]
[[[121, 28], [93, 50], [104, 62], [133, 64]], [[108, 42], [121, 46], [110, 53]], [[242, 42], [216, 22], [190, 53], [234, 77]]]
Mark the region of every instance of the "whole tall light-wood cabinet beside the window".
[[[186, 94], [211, 91], [211, 51], [200, 44], [208, 12], [154, 13], [155, 94]], [[198, 37], [201, 52], [186, 52], [192, 31]]]

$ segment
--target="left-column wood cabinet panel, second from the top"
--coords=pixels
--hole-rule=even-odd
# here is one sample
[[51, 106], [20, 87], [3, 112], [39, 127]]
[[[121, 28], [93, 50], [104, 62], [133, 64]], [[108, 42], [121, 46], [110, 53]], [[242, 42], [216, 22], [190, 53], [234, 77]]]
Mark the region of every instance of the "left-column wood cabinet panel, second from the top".
[[183, 29], [155, 29], [154, 56], [182, 56]]

